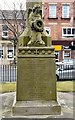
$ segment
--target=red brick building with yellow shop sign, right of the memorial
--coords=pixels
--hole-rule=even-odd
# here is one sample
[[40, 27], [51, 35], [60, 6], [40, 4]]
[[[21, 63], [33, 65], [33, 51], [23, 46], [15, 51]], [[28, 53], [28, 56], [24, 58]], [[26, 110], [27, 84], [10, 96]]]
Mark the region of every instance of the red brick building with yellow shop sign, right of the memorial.
[[75, 58], [75, 0], [43, 0], [43, 20], [57, 61]]

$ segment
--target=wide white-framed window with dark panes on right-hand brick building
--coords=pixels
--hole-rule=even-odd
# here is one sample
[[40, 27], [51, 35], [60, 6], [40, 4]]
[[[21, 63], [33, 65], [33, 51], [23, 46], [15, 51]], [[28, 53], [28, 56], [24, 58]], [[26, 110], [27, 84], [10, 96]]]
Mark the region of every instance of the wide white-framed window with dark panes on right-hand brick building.
[[63, 38], [75, 38], [75, 28], [73, 27], [62, 28], [62, 37]]

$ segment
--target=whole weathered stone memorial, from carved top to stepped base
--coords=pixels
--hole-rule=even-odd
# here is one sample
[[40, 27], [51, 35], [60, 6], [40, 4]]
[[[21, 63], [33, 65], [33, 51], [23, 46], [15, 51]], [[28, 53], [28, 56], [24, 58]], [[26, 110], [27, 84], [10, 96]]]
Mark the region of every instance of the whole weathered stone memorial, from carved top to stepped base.
[[51, 38], [44, 30], [42, 2], [28, 2], [26, 29], [19, 37], [13, 116], [60, 115]]

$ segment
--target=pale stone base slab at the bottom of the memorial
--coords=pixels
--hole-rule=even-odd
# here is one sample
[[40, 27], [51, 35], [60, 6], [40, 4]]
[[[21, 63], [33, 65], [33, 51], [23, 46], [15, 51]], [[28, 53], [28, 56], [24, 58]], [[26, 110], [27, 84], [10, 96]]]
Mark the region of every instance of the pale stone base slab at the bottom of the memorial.
[[60, 115], [61, 107], [56, 101], [17, 101], [13, 116]]

